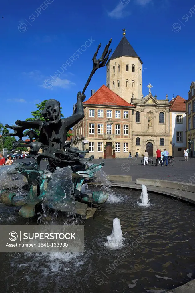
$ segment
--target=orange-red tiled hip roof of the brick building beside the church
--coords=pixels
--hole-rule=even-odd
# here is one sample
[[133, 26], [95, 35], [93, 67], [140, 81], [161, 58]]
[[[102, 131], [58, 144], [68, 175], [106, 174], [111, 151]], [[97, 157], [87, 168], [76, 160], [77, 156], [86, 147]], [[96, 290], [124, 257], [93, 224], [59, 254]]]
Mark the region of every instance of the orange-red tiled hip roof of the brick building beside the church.
[[83, 102], [83, 104], [135, 107], [134, 105], [127, 103], [105, 85], [101, 86], [101, 88], [99, 88], [98, 91], [96, 91], [87, 101]]

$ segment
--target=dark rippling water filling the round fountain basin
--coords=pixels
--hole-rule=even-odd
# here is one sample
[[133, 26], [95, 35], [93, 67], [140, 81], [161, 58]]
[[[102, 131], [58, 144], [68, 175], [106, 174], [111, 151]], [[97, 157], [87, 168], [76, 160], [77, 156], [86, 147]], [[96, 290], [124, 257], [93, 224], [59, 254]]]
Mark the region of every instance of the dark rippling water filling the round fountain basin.
[[[1, 253], [0, 292], [163, 292], [195, 278], [195, 207], [141, 191], [114, 189], [85, 229], [84, 253]], [[35, 224], [0, 204], [0, 224]], [[112, 221], [119, 218], [125, 246], [105, 247]]]

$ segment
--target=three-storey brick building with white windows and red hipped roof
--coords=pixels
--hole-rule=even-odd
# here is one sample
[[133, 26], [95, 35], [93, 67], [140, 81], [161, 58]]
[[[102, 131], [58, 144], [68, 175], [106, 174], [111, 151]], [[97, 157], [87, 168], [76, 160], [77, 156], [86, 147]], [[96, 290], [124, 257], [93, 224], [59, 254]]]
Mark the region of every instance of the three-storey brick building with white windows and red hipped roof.
[[74, 145], [89, 150], [86, 157], [124, 158], [132, 145], [132, 110], [127, 103], [105, 85], [83, 103], [85, 117], [74, 126]]

